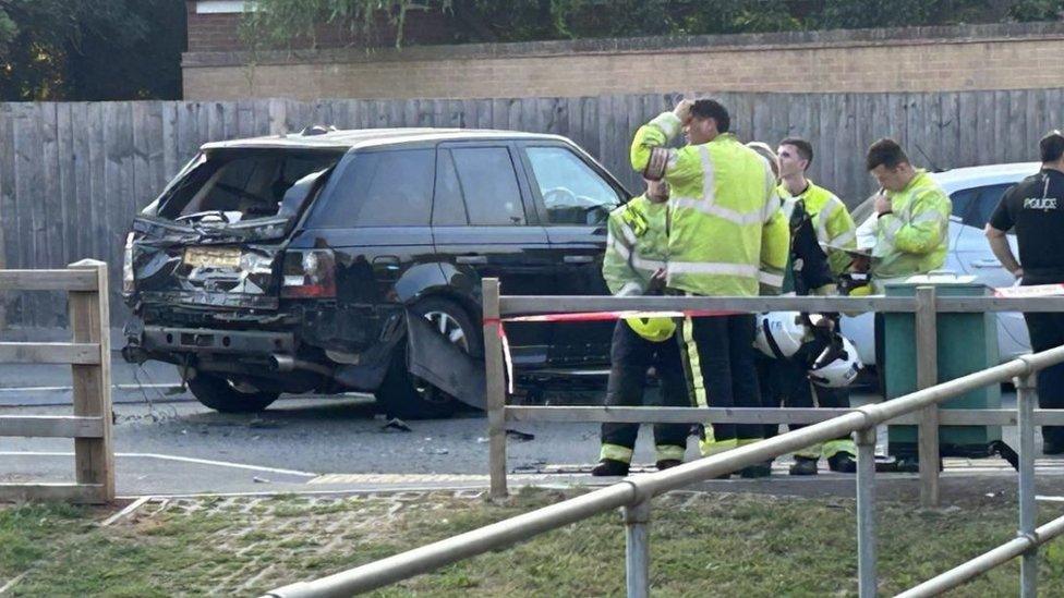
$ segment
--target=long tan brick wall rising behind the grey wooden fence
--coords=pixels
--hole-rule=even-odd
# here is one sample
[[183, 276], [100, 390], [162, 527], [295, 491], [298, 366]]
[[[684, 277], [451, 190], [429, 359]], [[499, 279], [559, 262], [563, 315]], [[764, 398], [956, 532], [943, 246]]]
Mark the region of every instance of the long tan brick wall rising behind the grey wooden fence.
[[[191, 29], [191, 27], [190, 27]], [[190, 40], [190, 47], [193, 47]], [[1055, 87], [1064, 24], [184, 54], [186, 99]]]

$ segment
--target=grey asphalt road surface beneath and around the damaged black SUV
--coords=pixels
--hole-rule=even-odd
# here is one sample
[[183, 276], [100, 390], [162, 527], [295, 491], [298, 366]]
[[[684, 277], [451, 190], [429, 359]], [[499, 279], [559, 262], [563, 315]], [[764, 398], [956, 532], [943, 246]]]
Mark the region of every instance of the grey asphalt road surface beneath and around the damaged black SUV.
[[[21, 380], [25, 381], [19, 383], [46, 386], [31, 392], [11, 391], [11, 379], [0, 378], [8, 387], [8, 391], [0, 390], [0, 398], [9, 400], [9, 406], [0, 402], [0, 414], [69, 413], [63, 404], [69, 393], [57, 389], [59, 385], [49, 375], [45, 370], [36, 377], [23, 373]], [[154, 383], [177, 381], [172, 374], [167, 380], [167, 375], [164, 370], [149, 374]], [[135, 379], [132, 370], [116, 378], [119, 383], [148, 381], [143, 371]], [[11, 406], [17, 396], [32, 400]], [[154, 387], [128, 388], [116, 396], [117, 483], [123, 496], [484, 484], [486, 420], [480, 414], [409, 422], [409, 431], [403, 431], [387, 426], [366, 395], [286, 399], [257, 415], [215, 413], [188, 394], [166, 395]], [[862, 395], [857, 402], [870, 400], [874, 398]], [[1006, 404], [1012, 400], [1007, 396]], [[596, 425], [524, 423], [511, 428], [532, 435], [531, 439], [513, 436], [508, 442], [508, 467], [517, 476], [516, 483], [591, 481], [587, 471], [597, 456]], [[1012, 431], [1006, 429], [1006, 439]], [[72, 450], [68, 439], [0, 438], [0, 480], [70, 480]], [[643, 435], [636, 462], [651, 463], [652, 451]], [[694, 456], [692, 439], [688, 457]], [[777, 466], [782, 476], [785, 466], [786, 462]], [[951, 475], [1009, 475], [1001, 461], [951, 461], [947, 467]], [[846, 476], [787, 483], [797, 484], [800, 493], [813, 488], [846, 493], [853, 486]], [[730, 484], [739, 485], [737, 489], [742, 484], [762, 488], [758, 483]]]

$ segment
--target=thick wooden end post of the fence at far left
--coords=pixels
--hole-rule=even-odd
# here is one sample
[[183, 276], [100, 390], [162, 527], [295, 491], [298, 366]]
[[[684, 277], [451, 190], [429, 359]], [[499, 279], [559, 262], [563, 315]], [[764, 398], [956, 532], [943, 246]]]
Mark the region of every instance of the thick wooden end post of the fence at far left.
[[114, 453], [111, 444], [111, 334], [107, 265], [83, 259], [71, 269], [95, 270], [96, 291], [70, 291], [70, 327], [75, 343], [99, 343], [99, 365], [72, 365], [74, 415], [100, 417], [100, 438], [74, 439], [77, 484], [99, 486], [96, 499], [114, 499]]

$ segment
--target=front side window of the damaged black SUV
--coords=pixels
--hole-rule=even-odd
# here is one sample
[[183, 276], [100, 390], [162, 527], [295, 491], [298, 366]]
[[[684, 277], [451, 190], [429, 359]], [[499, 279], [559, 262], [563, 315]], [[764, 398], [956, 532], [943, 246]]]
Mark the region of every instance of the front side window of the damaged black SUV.
[[621, 198], [579, 156], [565, 147], [528, 147], [525, 154], [549, 224], [600, 224]]

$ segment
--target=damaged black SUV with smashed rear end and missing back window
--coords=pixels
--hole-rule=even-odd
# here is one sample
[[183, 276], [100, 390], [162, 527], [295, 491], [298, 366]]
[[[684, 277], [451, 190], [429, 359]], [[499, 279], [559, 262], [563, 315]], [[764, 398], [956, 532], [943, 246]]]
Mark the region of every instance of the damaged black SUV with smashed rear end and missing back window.
[[[364, 391], [399, 417], [443, 416], [480, 394], [460, 375], [469, 364], [436, 350], [446, 339], [482, 357], [481, 280], [607, 293], [606, 217], [627, 199], [554, 135], [313, 127], [207, 144], [133, 223], [123, 355], [176, 364], [222, 412]], [[610, 328], [507, 332], [520, 371], [564, 371], [608, 363]], [[437, 338], [419, 344], [418, 369], [410, 341], [424, 329]]]

